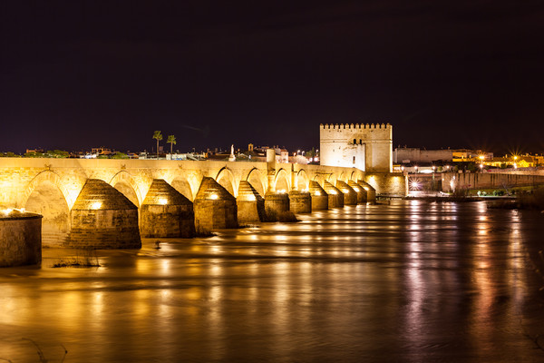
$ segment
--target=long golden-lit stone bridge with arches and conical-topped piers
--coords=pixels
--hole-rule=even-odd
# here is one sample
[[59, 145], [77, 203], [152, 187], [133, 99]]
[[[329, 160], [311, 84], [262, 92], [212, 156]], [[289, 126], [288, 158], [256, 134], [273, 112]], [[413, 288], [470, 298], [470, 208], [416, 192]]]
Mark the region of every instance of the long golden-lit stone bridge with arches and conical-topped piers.
[[[203, 181], [207, 181], [205, 188], [207, 191], [203, 190]], [[179, 219], [180, 215], [185, 213], [185, 210], [181, 211], [185, 207], [180, 207], [184, 203], [190, 204], [187, 207], [189, 209], [185, 209], [191, 215], [192, 204], [195, 204], [193, 218], [195, 218], [194, 223], [197, 224], [197, 229], [200, 226], [213, 230], [232, 227], [238, 223], [236, 207], [230, 211], [225, 209], [227, 207], [218, 207], [219, 201], [213, 201], [218, 199], [218, 196], [232, 199], [235, 205], [238, 199], [238, 220], [240, 220], [245, 218], [240, 215], [245, 208], [240, 204], [241, 201], [264, 203], [270, 200], [268, 210], [273, 211], [274, 208], [285, 208], [277, 207], [282, 203], [280, 201], [282, 198], [278, 200], [277, 195], [285, 194], [285, 198], [287, 195], [291, 196], [291, 208], [287, 207], [291, 211], [311, 211], [311, 206], [310, 209], [298, 208], [296, 200], [306, 204], [314, 203], [314, 197], [327, 194], [325, 187], [330, 190], [331, 186], [335, 188], [338, 185], [346, 185], [346, 188], [341, 188], [341, 191], [336, 189], [343, 194], [347, 192], [347, 189], [353, 192], [348, 184], [353, 187], [357, 185], [356, 183], [362, 186], [367, 185], [368, 188], [365, 189], [373, 189], [378, 195], [405, 195], [406, 192], [403, 174], [368, 174], [355, 168], [324, 165], [275, 161], [193, 162], [0, 158], [0, 209], [24, 209], [42, 214], [45, 246], [64, 245], [67, 240], [70, 240], [71, 233], [72, 240], [78, 240], [78, 238], [84, 240], [85, 236], [88, 237], [93, 231], [103, 230], [105, 233], [103, 243], [95, 243], [94, 246], [112, 248], [120, 244], [115, 242], [110, 244], [108, 239], [119, 238], [123, 231], [126, 231], [127, 235], [134, 232], [138, 234], [139, 223], [141, 231], [145, 221], [151, 224], [151, 228], [164, 223], [164, 218], [161, 220], [161, 217], [157, 215], [171, 217], [174, 213], [175, 218]], [[214, 190], [218, 193], [211, 192], [213, 188], [216, 188]], [[206, 192], [208, 197], [204, 196]], [[240, 193], [245, 195], [250, 193], [251, 196], [250, 198], [242, 197]], [[121, 194], [126, 199], [119, 197]], [[200, 194], [201, 197], [199, 197]], [[176, 208], [181, 209], [172, 210], [168, 198], [162, 198], [160, 195], [176, 200]], [[223, 197], [219, 200], [224, 199]], [[214, 207], [203, 207], [203, 211], [197, 211], [199, 199], [208, 199], [211, 200], [209, 202], [216, 204]], [[359, 200], [362, 199], [359, 198]], [[277, 204], [278, 201], [279, 204]], [[147, 208], [148, 205], [151, 207]], [[204, 204], [199, 203], [199, 205]], [[288, 201], [287, 205], [289, 205]], [[147, 217], [147, 214], [142, 215], [143, 207], [147, 208], [146, 213], [154, 213], [151, 219]], [[165, 208], [170, 209], [167, 211]], [[214, 212], [206, 211], [206, 208], [211, 208]], [[117, 211], [101, 216], [97, 214], [101, 209], [104, 213], [106, 210]], [[218, 209], [220, 211], [216, 213]], [[122, 213], [119, 210], [123, 210]], [[228, 214], [232, 212], [235, 214], [235, 221], [229, 223]], [[132, 214], [136, 216], [135, 229], [133, 222], [123, 224], [126, 219], [134, 218], [130, 217]], [[222, 222], [218, 222], [219, 220]], [[263, 221], [262, 216], [260, 221]], [[85, 223], [87, 230], [82, 227]], [[184, 229], [181, 224], [177, 228]], [[149, 231], [142, 232], [142, 236], [171, 237], [184, 236], [184, 234], [181, 232], [161, 234], [157, 231]], [[138, 240], [140, 240], [139, 234]], [[138, 242], [132, 245], [138, 245]]]

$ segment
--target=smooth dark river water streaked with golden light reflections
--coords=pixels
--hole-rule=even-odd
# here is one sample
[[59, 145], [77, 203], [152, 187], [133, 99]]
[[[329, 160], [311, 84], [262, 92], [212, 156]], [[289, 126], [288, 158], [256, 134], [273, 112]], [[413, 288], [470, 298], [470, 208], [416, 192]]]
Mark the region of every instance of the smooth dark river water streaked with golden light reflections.
[[65, 362], [544, 362], [544, 214], [398, 201], [302, 219], [0, 269], [0, 358], [39, 362], [30, 338], [50, 362], [61, 344]]

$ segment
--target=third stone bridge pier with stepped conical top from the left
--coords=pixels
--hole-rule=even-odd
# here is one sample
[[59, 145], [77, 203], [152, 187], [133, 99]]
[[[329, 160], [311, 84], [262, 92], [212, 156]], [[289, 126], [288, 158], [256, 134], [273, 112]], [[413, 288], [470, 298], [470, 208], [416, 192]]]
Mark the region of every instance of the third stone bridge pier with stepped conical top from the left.
[[193, 208], [197, 234], [238, 227], [236, 198], [212, 178], [202, 179]]

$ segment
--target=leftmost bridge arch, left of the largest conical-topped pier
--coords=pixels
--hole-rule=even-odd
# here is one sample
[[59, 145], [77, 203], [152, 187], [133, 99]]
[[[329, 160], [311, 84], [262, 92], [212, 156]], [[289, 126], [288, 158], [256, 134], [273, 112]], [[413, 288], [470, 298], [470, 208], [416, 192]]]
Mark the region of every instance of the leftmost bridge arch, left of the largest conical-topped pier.
[[42, 243], [44, 246], [61, 246], [70, 232], [70, 208], [77, 195], [71, 196], [58, 174], [51, 171], [38, 173], [29, 182], [23, 195], [26, 211], [40, 213]]

